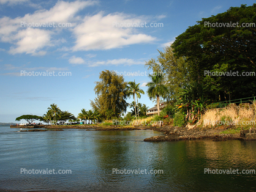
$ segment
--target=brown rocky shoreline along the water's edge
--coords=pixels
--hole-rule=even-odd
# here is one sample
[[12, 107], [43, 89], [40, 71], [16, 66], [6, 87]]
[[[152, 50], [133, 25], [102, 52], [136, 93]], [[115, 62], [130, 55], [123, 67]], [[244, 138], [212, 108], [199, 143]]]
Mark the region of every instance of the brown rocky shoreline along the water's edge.
[[[245, 136], [249, 130], [241, 130], [240, 133], [221, 133], [235, 127], [214, 127], [214, 128], [186, 128], [186, 127], [171, 127], [166, 125], [163, 127], [149, 127], [149, 126], [117, 126], [117, 125], [11, 125], [10, 128], [31, 128], [26, 131], [43, 131], [40, 128], [48, 130], [60, 130], [66, 128], [85, 129], [86, 131], [130, 131], [130, 130], [154, 130], [164, 133], [160, 136], [152, 136], [145, 138], [146, 142], [160, 142], [160, 141], [182, 141], [182, 140], [213, 140], [213, 141], [227, 141], [227, 140], [256, 140], [256, 136]], [[37, 130], [36, 130], [37, 129]], [[47, 131], [48, 131], [47, 130]], [[244, 131], [247, 131], [246, 133]], [[256, 133], [255, 133], [256, 134]]]

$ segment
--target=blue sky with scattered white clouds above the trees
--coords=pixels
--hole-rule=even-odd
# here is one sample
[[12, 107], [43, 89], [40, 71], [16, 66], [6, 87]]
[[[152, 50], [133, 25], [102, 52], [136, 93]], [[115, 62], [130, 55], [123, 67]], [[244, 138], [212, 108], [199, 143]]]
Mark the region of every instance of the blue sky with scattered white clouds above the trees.
[[0, 122], [42, 116], [52, 103], [77, 116], [104, 70], [140, 83], [139, 102], [151, 108], [145, 62], [201, 18], [253, 3], [0, 0]]

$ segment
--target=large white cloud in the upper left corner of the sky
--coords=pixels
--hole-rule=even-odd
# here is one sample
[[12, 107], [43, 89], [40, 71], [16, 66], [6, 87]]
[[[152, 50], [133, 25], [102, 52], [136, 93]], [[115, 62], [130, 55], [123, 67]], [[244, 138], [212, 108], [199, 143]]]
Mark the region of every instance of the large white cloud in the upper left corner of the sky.
[[[2, 3], [7, 2], [4, 0], [0, 1]], [[3, 17], [0, 19], [0, 40], [15, 45], [10, 48], [9, 53], [43, 55], [46, 52], [40, 50], [45, 48], [45, 46], [51, 46], [51, 36], [61, 28], [28, 28], [24, 26], [25, 23], [27, 25], [29, 23], [55, 23], [55, 25], [58, 23], [72, 23], [72, 21], [76, 20], [74, 16], [79, 10], [96, 3], [97, 1], [58, 1], [49, 10], [37, 10], [32, 14], [28, 13], [24, 17], [14, 19]], [[56, 42], [64, 43], [65, 40], [57, 39], [52, 44], [55, 45]]]

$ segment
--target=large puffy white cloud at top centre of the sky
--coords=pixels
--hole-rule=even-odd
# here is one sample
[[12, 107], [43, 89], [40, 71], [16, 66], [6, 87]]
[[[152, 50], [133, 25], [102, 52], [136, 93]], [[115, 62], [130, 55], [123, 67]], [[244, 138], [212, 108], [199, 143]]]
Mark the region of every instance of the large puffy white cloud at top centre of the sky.
[[104, 16], [102, 12], [87, 16], [83, 23], [73, 29], [77, 37], [74, 51], [78, 50], [109, 50], [125, 45], [149, 43], [156, 40], [150, 35], [141, 34], [135, 28], [116, 27], [115, 23], [144, 23], [141, 17], [132, 17], [122, 13]]

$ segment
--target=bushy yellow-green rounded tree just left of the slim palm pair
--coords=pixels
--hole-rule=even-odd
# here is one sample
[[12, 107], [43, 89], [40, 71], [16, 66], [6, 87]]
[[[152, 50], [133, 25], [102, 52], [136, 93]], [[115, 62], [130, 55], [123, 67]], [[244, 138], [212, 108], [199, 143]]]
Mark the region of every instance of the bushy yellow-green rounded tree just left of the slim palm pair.
[[124, 82], [124, 78], [109, 70], [100, 72], [99, 78], [100, 81], [96, 82], [94, 88], [97, 98], [94, 102], [91, 101], [92, 109], [97, 110], [105, 119], [108, 118], [109, 111], [113, 113], [111, 118], [126, 112], [127, 83]]

